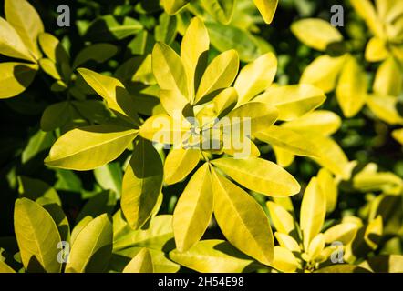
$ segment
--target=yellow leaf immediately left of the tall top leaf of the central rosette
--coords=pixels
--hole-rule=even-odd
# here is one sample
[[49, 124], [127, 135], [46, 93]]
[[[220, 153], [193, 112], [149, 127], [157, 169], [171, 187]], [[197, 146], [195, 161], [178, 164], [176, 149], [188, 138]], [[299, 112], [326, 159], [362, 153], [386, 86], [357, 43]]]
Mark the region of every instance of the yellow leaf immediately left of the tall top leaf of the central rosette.
[[162, 90], [188, 96], [188, 84], [181, 57], [169, 45], [158, 43], [152, 51], [152, 72]]

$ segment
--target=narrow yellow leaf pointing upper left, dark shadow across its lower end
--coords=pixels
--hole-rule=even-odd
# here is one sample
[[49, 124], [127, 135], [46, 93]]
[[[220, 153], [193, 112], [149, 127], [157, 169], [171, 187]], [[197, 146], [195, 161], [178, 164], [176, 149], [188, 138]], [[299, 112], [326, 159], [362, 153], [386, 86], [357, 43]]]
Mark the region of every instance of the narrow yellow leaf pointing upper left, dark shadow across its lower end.
[[123, 117], [127, 117], [128, 121], [134, 125], [140, 124], [140, 118], [136, 111], [136, 102], [118, 79], [100, 75], [84, 68], [78, 69], [78, 73], [98, 95], [107, 101], [109, 109]]

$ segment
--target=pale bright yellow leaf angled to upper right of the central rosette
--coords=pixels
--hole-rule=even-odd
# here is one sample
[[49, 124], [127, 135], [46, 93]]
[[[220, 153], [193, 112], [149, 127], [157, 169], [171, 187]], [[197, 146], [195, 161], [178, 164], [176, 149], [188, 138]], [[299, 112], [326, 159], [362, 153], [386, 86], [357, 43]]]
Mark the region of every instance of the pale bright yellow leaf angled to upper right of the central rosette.
[[238, 104], [250, 101], [255, 95], [268, 89], [274, 81], [277, 72], [277, 58], [273, 53], [267, 53], [245, 65], [235, 82], [239, 94]]

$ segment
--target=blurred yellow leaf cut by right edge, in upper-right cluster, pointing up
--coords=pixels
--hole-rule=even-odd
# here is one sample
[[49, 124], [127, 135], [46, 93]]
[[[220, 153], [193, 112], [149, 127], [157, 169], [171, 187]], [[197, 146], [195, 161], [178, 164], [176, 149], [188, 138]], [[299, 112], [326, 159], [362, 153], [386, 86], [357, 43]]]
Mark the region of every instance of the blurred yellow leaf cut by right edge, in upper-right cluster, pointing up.
[[403, 88], [403, 71], [393, 58], [389, 57], [377, 69], [374, 81], [374, 93], [377, 95], [398, 96]]

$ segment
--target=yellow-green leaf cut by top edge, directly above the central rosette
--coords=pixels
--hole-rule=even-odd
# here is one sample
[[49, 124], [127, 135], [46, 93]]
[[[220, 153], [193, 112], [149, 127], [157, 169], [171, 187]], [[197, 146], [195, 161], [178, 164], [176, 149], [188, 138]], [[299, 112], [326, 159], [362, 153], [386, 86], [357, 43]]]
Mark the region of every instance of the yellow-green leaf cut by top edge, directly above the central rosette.
[[202, 7], [223, 25], [233, 20], [235, 0], [204, 0]]

